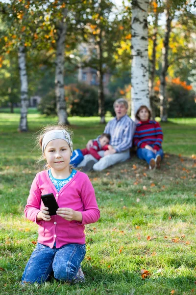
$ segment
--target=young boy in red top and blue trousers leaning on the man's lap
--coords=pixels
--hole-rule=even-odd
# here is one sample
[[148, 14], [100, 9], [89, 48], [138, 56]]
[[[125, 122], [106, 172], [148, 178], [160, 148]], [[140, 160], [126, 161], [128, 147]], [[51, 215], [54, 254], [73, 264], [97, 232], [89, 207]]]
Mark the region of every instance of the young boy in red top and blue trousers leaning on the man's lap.
[[70, 164], [74, 167], [77, 167], [77, 165], [81, 163], [81, 161], [84, 159], [84, 156], [87, 154], [91, 154], [94, 158], [100, 160], [101, 156], [98, 154], [98, 151], [112, 148], [109, 145], [110, 138], [110, 134], [102, 133], [98, 139], [93, 141], [93, 146], [90, 149], [74, 149], [73, 155], [71, 156]]

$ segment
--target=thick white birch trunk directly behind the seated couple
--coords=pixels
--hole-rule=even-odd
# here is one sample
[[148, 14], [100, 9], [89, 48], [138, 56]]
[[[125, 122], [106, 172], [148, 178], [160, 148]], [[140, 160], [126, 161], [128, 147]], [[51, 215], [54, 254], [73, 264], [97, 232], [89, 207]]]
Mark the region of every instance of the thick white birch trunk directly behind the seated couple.
[[132, 65], [131, 65], [131, 118], [141, 105], [149, 103], [148, 89], [148, 36], [147, 36], [148, 0], [132, 1]]

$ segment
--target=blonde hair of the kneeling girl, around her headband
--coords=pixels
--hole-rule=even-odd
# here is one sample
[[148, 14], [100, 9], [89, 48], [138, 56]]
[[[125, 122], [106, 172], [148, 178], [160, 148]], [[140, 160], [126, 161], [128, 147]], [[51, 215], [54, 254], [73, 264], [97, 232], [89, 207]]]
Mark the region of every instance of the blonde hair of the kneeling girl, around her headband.
[[[64, 124], [59, 123], [58, 125], [47, 125], [45, 127], [43, 127], [39, 132], [39, 135], [37, 135], [36, 137], [36, 147], [39, 150], [42, 151], [42, 141], [43, 141], [43, 137], [45, 136], [45, 134], [51, 130], [66, 130], [69, 134], [70, 137], [72, 138], [73, 136], [73, 131]], [[37, 161], [37, 163], [39, 164], [42, 160], [44, 160], [43, 154], [41, 155], [40, 159]], [[47, 163], [45, 165], [45, 169], [48, 170], [50, 168], [49, 164]], [[73, 169], [74, 167], [72, 165], [70, 165], [70, 169]], [[74, 168], [75, 169], [75, 168]]]

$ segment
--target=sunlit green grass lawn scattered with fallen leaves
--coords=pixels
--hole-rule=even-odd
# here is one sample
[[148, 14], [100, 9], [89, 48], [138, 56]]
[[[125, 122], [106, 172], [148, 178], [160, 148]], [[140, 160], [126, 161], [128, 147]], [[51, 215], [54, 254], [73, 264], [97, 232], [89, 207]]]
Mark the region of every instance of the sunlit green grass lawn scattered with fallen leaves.
[[[166, 153], [161, 170], [149, 171], [133, 154], [123, 164], [88, 173], [101, 218], [86, 226], [85, 284], [52, 279], [25, 287], [20, 281], [35, 247], [37, 226], [23, 212], [31, 182], [41, 169], [33, 136], [57, 118], [29, 114], [27, 133], [17, 132], [19, 119], [19, 114], [0, 113], [1, 294], [196, 294], [196, 119], [161, 124]], [[70, 118], [74, 148], [85, 147], [103, 131], [98, 122]], [[149, 271], [146, 279], [142, 269]]]

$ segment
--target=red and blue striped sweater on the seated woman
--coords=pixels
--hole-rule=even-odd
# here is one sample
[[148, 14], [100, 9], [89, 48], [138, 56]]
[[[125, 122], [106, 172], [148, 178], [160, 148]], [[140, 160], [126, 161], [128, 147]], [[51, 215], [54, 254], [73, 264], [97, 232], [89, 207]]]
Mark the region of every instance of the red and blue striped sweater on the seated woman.
[[159, 150], [163, 142], [163, 132], [158, 122], [153, 120], [140, 121], [136, 125], [133, 137], [134, 146], [145, 148], [146, 145], [153, 145], [153, 148]]

